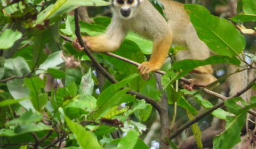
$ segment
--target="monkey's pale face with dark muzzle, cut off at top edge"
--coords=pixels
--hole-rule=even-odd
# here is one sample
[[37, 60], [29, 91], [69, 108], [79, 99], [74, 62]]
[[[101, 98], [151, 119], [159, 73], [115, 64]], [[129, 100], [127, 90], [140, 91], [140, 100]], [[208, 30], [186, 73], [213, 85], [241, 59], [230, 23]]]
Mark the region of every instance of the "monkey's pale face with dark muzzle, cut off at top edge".
[[143, 0], [112, 0], [111, 6], [122, 19], [130, 19], [142, 1]]

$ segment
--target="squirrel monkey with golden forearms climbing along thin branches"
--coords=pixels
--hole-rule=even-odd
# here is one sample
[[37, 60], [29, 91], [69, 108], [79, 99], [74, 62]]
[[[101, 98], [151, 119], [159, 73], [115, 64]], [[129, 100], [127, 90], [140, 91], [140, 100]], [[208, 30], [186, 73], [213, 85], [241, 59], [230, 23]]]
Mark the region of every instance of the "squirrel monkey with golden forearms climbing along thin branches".
[[[143, 62], [139, 67], [140, 74], [147, 78], [150, 71], [162, 67], [171, 44], [184, 45], [188, 50], [179, 51], [177, 60], [194, 59], [204, 60], [212, 52], [196, 34], [196, 30], [189, 20], [189, 16], [181, 3], [170, 0], [159, 0], [165, 7], [166, 21], [148, 0], [111, 0], [113, 17], [107, 31], [103, 35], [84, 37], [84, 43], [91, 51], [112, 52], [123, 42], [127, 31], [131, 30], [137, 34], [153, 41], [153, 52], [148, 62]], [[79, 50], [83, 48], [77, 40], [73, 46]], [[230, 66], [229, 72], [234, 72], [237, 67]], [[198, 67], [191, 72], [192, 83], [185, 88], [192, 90], [194, 85], [206, 86], [217, 80], [213, 76], [211, 65]], [[246, 74], [236, 73], [230, 78], [231, 95], [241, 90], [245, 84]], [[239, 78], [239, 79], [238, 79]], [[243, 84], [241, 84], [241, 81]], [[245, 84], [246, 85], [246, 84]], [[235, 88], [235, 89], [233, 89]]]

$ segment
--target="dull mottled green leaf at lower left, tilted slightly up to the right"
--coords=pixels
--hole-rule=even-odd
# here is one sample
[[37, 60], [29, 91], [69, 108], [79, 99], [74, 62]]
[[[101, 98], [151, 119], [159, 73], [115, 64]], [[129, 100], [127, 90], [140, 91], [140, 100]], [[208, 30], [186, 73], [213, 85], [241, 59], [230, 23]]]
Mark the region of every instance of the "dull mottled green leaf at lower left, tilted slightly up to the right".
[[39, 122], [43, 118], [43, 115], [39, 112], [33, 113], [32, 110], [27, 111], [26, 113], [22, 114], [19, 118], [13, 119], [5, 123], [5, 126], [10, 128], [15, 128], [21, 125], [29, 125], [32, 122]]

